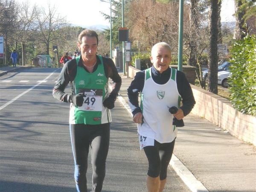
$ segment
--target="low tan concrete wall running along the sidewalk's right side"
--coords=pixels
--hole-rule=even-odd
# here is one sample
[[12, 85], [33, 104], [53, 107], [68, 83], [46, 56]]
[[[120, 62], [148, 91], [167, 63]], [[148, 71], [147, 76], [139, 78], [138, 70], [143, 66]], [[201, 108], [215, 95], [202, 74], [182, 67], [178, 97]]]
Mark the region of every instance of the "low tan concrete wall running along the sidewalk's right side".
[[[129, 66], [129, 77], [134, 78], [138, 71]], [[193, 114], [204, 117], [231, 135], [256, 146], [256, 117], [236, 111], [228, 99], [195, 85], [191, 87], [196, 101]]]

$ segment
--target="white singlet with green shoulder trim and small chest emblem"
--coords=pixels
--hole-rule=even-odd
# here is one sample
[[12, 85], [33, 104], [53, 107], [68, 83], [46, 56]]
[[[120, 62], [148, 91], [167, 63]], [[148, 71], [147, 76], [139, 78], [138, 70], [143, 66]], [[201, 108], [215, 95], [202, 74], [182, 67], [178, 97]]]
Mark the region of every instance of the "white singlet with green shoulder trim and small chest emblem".
[[172, 69], [166, 84], [157, 84], [151, 76], [151, 68], [145, 70], [144, 87], [141, 93], [140, 108], [143, 122], [138, 124], [138, 132], [159, 143], [170, 143], [177, 137], [177, 128], [172, 125], [173, 115], [169, 108], [180, 107], [181, 96], [177, 89], [176, 72]]

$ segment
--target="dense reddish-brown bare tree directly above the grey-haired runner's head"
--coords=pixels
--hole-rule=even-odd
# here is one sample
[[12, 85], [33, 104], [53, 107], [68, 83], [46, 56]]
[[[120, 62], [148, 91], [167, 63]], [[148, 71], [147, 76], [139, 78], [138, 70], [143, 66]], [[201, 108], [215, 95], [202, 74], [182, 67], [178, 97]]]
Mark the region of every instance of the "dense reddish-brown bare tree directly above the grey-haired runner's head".
[[[132, 1], [127, 19], [131, 39], [140, 41], [142, 51], [150, 50], [152, 45], [160, 41], [166, 41], [177, 51], [178, 10], [178, 3]], [[184, 13], [184, 17], [188, 17], [187, 12]]]

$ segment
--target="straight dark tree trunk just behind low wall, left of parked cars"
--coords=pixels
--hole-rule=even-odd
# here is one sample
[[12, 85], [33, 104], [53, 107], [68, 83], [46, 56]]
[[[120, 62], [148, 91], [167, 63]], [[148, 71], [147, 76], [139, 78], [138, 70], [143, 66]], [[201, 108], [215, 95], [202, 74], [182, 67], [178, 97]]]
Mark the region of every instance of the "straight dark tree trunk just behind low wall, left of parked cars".
[[209, 79], [208, 90], [218, 94], [218, 1], [209, 0]]

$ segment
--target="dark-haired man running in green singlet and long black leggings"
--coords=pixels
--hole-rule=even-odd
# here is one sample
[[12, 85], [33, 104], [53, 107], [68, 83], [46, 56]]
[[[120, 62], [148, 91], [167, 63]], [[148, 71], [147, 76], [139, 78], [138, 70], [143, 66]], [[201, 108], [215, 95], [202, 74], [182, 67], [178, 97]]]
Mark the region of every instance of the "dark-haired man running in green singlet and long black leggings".
[[[105, 163], [110, 138], [110, 109], [121, 87], [121, 77], [111, 58], [96, 55], [98, 35], [85, 29], [78, 37], [81, 55], [67, 61], [53, 89], [53, 96], [70, 102], [70, 137], [75, 160], [78, 192], [87, 192], [87, 158], [91, 148], [92, 192], [100, 192], [105, 177]], [[115, 87], [108, 93], [108, 78]], [[64, 92], [70, 83], [72, 94]]]

